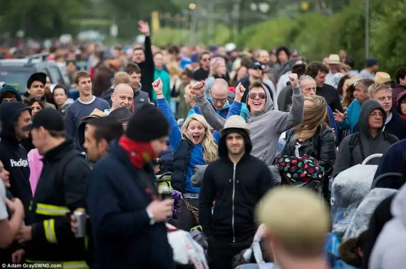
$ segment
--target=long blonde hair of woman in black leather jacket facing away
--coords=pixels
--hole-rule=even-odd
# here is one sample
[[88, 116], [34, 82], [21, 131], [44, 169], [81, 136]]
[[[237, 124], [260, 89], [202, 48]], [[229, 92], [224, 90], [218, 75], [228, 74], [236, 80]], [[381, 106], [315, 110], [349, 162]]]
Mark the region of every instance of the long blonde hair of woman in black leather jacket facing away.
[[303, 122], [293, 127], [297, 131], [294, 138], [300, 141], [312, 138], [318, 128], [327, 126], [328, 123], [327, 102], [323, 97], [312, 95], [304, 100], [311, 101], [312, 104], [304, 106]]

